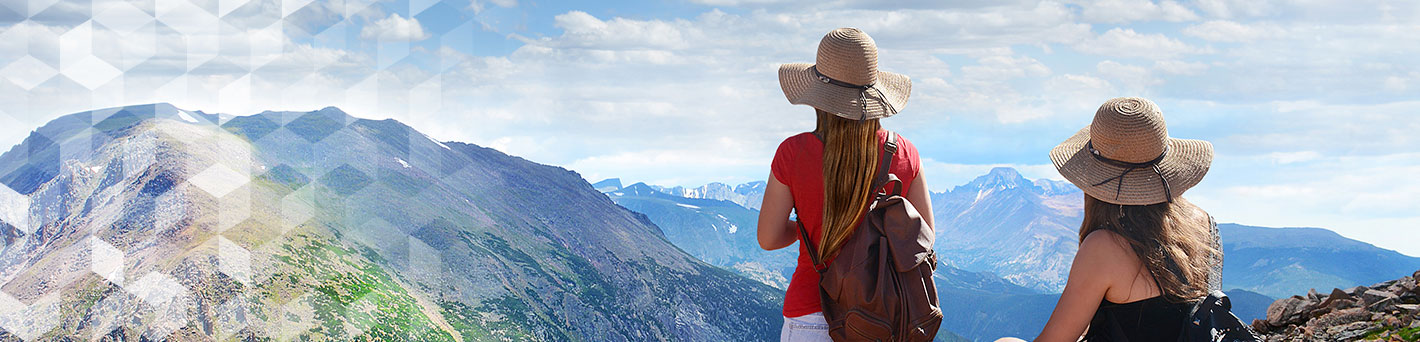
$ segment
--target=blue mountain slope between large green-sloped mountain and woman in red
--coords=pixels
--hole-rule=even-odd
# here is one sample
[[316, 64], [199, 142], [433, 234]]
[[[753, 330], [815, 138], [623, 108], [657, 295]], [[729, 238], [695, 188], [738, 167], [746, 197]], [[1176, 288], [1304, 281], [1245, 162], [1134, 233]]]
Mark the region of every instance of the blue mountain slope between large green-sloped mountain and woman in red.
[[[599, 182], [605, 183], [605, 182]], [[755, 237], [760, 211], [719, 199], [690, 199], [635, 183], [606, 194], [632, 211], [646, 214], [666, 240], [706, 263], [726, 267], [775, 288], [788, 288], [798, 244], [765, 251]]]

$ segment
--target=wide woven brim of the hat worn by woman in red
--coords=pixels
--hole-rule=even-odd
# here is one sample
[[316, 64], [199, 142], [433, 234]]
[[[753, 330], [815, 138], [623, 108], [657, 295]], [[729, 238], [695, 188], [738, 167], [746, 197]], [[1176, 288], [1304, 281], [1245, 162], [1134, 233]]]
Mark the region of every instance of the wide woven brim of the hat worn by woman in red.
[[780, 88], [784, 89], [790, 104], [809, 105], [848, 119], [882, 119], [907, 106], [907, 96], [912, 94], [912, 79], [907, 75], [878, 71], [873, 88], [882, 94], [869, 89], [865, 106], [862, 91], [825, 84], [812, 67], [814, 64], [808, 62], [780, 65]]

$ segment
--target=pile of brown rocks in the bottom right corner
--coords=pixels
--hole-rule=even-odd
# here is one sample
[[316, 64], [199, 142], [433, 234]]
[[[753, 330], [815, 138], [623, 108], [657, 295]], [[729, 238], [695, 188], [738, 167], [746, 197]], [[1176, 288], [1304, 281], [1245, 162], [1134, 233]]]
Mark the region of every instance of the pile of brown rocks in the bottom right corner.
[[1370, 287], [1294, 295], [1252, 321], [1264, 341], [1420, 341], [1420, 271]]

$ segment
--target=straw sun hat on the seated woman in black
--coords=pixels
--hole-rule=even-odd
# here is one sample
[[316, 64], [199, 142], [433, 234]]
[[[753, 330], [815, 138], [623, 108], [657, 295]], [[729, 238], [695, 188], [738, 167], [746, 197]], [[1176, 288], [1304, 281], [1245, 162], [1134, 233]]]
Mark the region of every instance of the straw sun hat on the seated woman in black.
[[1091, 197], [1125, 206], [1173, 202], [1203, 180], [1213, 145], [1173, 139], [1163, 112], [1143, 98], [1113, 98], [1095, 122], [1051, 150], [1051, 160]]

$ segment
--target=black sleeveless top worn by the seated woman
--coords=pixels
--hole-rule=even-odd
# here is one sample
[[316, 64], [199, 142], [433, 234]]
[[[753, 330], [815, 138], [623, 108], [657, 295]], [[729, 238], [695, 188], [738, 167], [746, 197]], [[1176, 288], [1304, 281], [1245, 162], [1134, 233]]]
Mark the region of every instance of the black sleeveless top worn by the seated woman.
[[1115, 341], [1115, 329], [1125, 341], [1176, 341], [1183, 333], [1183, 322], [1193, 305], [1169, 302], [1163, 295], [1127, 304], [1099, 302], [1095, 318], [1089, 319], [1085, 341]]

